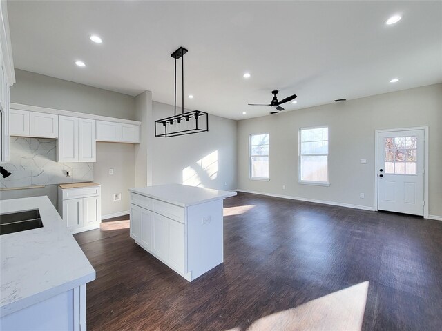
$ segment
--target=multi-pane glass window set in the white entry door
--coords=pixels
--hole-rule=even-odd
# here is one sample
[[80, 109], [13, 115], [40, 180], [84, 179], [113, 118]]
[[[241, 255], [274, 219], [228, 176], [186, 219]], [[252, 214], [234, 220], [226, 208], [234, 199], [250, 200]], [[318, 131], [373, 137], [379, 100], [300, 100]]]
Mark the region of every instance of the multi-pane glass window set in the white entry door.
[[385, 174], [416, 174], [416, 143], [416, 136], [385, 138]]

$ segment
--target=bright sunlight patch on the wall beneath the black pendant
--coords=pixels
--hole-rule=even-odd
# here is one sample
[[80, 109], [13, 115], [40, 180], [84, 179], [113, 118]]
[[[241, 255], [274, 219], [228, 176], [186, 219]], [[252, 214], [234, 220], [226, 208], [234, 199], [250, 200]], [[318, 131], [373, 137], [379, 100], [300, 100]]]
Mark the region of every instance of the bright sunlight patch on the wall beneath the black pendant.
[[204, 188], [204, 181], [213, 181], [218, 175], [218, 150], [196, 161], [182, 170], [184, 185]]

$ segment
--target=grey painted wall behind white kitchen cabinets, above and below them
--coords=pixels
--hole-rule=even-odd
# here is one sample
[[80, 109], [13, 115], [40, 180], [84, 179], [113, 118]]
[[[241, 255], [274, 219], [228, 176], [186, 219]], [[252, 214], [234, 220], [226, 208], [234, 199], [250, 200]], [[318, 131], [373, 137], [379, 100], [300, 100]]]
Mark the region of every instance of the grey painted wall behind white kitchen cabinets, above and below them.
[[[13, 103], [84, 112], [121, 119], [135, 119], [135, 97], [93, 88], [54, 77], [15, 70], [17, 83], [10, 90]], [[102, 185], [102, 215], [128, 210], [127, 190], [135, 185], [135, 147], [125, 143], [97, 143], [94, 181]], [[113, 176], [108, 169], [114, 168]], [[127, 172], [124, 172], [128, 169]], [[113, 193], [122, 193], [122, 201], [113, 201]], [[48, 194], [57, 205], [57, 185], [44, 189], [1, 192], [1, 199]]]

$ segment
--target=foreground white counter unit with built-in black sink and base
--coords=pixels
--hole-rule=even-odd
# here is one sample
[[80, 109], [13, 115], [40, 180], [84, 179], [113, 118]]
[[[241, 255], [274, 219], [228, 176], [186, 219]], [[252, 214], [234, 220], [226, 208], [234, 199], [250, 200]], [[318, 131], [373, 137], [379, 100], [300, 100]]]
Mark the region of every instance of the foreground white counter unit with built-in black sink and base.
[[23, 211], [39, 226], [2, 230], [1, 330], [86, 330], [86, 283], [95, 270], [48, 197], [0, 201], [1, 227]]

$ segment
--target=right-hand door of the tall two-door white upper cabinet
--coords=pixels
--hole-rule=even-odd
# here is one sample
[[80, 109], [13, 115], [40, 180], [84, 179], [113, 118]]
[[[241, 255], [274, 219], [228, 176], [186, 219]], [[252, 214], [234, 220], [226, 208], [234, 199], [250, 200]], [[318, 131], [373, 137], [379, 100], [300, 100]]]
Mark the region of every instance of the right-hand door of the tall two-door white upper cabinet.
[[95, 119], [78, 119], [78, 161], [95, 162]]

